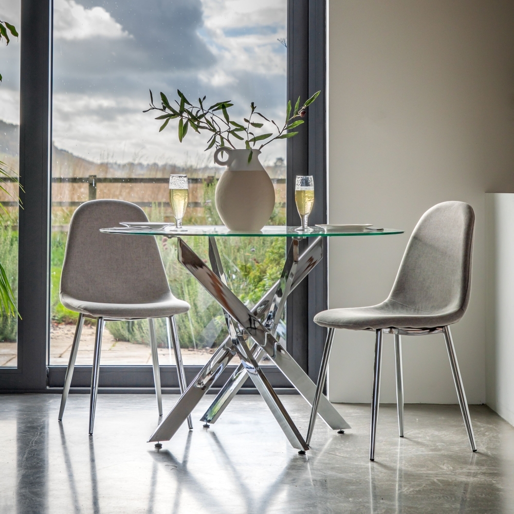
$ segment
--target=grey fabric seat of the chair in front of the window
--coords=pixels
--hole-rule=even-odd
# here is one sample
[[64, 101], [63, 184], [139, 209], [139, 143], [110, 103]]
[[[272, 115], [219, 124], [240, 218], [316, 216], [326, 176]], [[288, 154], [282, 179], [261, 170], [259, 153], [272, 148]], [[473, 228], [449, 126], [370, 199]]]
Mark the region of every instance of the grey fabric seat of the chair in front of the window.
[[98, 318], [138, 319], [164, 318], [187, 313], [188, 302], [178, 300], [172, 293], [148, 303], [98, 303], [71, 298], [61, 293], [62, 304], [70, 310]]

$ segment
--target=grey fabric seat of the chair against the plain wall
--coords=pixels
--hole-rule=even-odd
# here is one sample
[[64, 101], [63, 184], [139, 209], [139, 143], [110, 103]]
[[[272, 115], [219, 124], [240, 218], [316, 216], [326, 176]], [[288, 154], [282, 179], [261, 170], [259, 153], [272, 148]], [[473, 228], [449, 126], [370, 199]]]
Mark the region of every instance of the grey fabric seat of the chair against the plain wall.
[[323, 310], [315, 323], [327, 328], [365, 330], [380, 328], [435, 328], [450, 325], [464, 315], [462, 309], [448, 312], [422, 311], [388, 299], [371, 307]]

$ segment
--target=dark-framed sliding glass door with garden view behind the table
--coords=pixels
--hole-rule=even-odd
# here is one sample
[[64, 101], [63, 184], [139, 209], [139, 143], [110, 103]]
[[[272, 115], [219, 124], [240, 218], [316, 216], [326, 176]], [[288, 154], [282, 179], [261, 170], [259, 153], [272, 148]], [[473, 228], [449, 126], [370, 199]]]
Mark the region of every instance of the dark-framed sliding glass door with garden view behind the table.
[[[6, 4], [10, 11], [15, 3]], [[204, 151], [208, 138], [190, 129], [179, 142], [176, 120], [159, 131], [161, 122], [142, 112], [150, 89], [156, 104], [160, 91], [173, 102], [177, 89], [192, 103], [204, 95], [209, 104], [231, 100], [231, 118], [237, 121], [247, 116], [253, 101], [264, 116], [278, 122], [285, 117], [288, 99], [295, 102], [321, 89], [303, 132], [267, 146], [261, 160], [276, 191], [269, 223], [298, 224], [293, 177], [306, 174], [314, 174], [317, 184], [311, 221], [326, 221], [325, 3], [21, 0], [20, 27], [21, 318], [17, 368], [0, 366], [0, 388], [40, 391], [62, 387], [64, 381], [77, 315], [60, 303], [59, 281], [69, 221], [81, 203], [125, 199], [140, 205], [151, 220], [168, 221], [169, 175], [186, 173], [190, 203], [185, 222], [220, 223], [213, 193], [223, 168], [214, 165], [212, 148]], [[13, 81], [0, 85], [0, 114], [7, 113], [0, 117], [15, 124], [6, 107], [16, 100]], [[10, 103], [4, 101], [4, 84]], [[15, 211], [8, 199], [0, 201]], [[15, 223], [9, 230], [14, 247]], [[208, 258], [206, 242], [188, 243]], [[173, 292], [192, 306], [190, 315], [177, 320], [192, 378], [225, 337], [222, 313], [176, 262], [175, 242], [161, 238], [158, 244]], [[284, 242], [241, 238], [220, 245], [230, 286], [252, 305], [278, 278]], [[313, 377], [323, 333], [309, 321], [310, 311], [326, 305], [326, 263], [318, 268], [288, 300], [280, 332]], [[16, 285], [15, 272], [11, 274]], [[89, 384], [94, 329], [94, 320], [84, 328], [72, 387]], [[106, 387], [151, 387], [145, 324], [111, 322], [104, 334], [101, 386], [103, 376]], [[163, 324], [158, 325], [158, 339], [163, 386], [176, 387]]]

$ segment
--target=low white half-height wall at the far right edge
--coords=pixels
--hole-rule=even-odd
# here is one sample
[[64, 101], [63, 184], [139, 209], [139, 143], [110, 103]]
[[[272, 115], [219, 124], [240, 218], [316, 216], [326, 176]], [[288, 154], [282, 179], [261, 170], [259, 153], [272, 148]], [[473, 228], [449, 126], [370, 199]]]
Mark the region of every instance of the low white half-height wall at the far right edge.
[[486, 399], [514, 425], [514, 194], [486, 194]]

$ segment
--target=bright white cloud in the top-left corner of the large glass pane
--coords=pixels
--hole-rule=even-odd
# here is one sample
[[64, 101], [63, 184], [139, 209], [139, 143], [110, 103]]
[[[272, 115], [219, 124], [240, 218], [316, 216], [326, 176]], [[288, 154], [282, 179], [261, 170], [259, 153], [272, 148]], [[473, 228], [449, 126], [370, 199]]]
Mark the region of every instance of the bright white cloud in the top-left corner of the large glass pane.
[[122, 39], [132, 36], [103, 7], [86, 9], [75, 0], [55, 0], [54, 39]]

